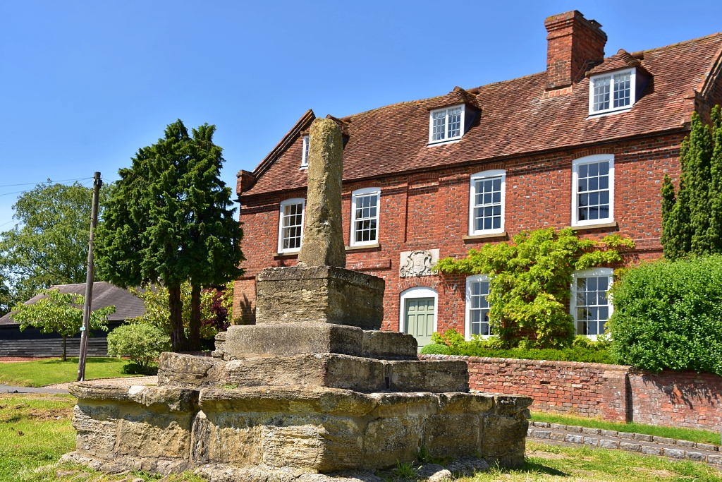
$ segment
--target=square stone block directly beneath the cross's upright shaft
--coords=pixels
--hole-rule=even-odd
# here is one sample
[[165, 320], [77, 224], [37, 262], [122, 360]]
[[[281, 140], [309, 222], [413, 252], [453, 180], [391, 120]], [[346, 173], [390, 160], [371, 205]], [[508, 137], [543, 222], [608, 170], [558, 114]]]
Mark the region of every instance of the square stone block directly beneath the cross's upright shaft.
[[334, 266], [266, 268], [256, 276], [256, 324], [335, 323], [378, 330], [380, 277]]

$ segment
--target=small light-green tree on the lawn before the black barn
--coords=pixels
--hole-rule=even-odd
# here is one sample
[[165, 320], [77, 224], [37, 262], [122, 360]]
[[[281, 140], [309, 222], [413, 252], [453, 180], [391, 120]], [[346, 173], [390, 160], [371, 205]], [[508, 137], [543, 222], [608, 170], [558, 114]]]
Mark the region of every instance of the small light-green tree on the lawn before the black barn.
[[[66, 339], [80, 331], [83, 324], [85, 297], [76, 293], [61, 293], [57, 289], [43, 290], [45, 298], [34, 304], [19, 303], [14, 307], [12, 319], [20, 323], [20, 331], [27, 327], [40, 328], [42, 333], [58, 333], [63, 337], [63, 361], [66, 361]], [[105, 322], [115, 313], [115, 306], [105, 306], [90, 314], [90, 330], [108, 331]], [[89, 333], [90, 335], [90, 333]]]

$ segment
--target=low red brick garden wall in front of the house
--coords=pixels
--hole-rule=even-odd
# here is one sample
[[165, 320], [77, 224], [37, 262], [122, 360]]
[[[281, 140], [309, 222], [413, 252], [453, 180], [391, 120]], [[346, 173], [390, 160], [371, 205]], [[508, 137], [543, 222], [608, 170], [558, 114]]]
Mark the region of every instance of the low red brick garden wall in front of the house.
[[464, 359], [472, 390], [534, 397], [533, 411], [722, 429], [722, 376], [685, 371], [656, 374], [630, 366], [575, 361], [443, 355], [420, 358]]

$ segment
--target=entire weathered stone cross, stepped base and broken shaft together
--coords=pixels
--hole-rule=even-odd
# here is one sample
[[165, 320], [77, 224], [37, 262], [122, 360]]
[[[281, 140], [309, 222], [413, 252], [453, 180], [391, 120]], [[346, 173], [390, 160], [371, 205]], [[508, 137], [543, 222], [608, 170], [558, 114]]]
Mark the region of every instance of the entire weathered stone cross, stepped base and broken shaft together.
[[422, 448], [456, 459], [419, 468], [429, 481], [524, 463], [531, 398], [470, 393], [465, 361], [378, 330], [383, 279], [344, 268], [341, 132], [316, 119], [310, 139], [303, 249], [258, 273], [256, 324], [219, 333], [214, 358], [162, 353], [157, 387], [71, 384], [62, 460], [238, 482], [380, 481]]

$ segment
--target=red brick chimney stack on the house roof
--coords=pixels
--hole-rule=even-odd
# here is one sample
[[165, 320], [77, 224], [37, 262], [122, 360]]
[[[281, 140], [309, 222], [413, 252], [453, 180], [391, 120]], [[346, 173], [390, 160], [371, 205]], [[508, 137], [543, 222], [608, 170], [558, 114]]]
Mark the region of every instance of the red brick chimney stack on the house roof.
[[544, 20], [547, 27], [547, 91], [568, 87], [604, 60], [604, 33], [599, 22], [573, 10]]

